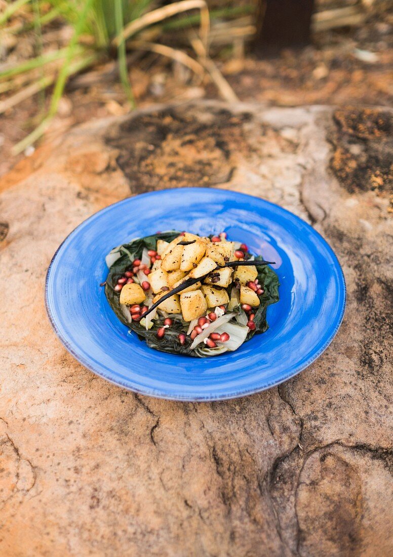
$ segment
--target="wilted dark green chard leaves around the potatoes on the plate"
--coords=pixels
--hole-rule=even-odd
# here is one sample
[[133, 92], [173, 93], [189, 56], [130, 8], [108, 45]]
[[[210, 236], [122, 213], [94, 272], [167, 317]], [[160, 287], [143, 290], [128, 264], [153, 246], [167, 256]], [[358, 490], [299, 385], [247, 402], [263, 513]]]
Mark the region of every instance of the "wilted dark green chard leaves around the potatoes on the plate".
[[[125, 317], [122, 311], [122, 306], [120, 305], [120, 294], [114, 290], [114, 287], [117, 285], [118, 278], [123, 276], [125, 271], [132, 270], [133, 261], [142, 256], [143, 248], [156, 250], [157, 240], [161, 239], [166, 242], [171, 242], [174, 238], [179, 236], [179, 234], [180, 232], [177, 231], [161, 232], [145, 238], [139, 238], [138, 240], [133, 240], [123, 246], [119, 246], [118, 252], [121, 255], [109, 269], [109, 274], [106, 278], [105, 284], [105, 295], [118, 319], [124, 325], [127, 325], [130, 331], [137, 333], [139, 339], [145, 342], [150, 348], [172, 354], [194, 356], [196, 358], [206, 358], [207, 356], [218, 355], [225, 350], [222, 346], [209, 349], [206, 345], [201, 344], [197, 346], [195, 350], [190, 350], [190, 346], [192, 344], [190, 336], [186, 336], [186, 340], [183, 345], [180, 344], [178, 335], [179, 333], [184, 334], [185, 330], [188, 328], [188, 323], [182, 321], [181, 319], [173, 319], [173, 324], [169, 328], [166, 328], [165, 335], [162, 338], [158, 338], [157, 329], [163, 326], [163, 317], [159, 317], [159, 319], [154, 320], [154, 326], [149, 330], [146, 330], [145, 327], [138, 321], [131, 321], [131, 323], [129, 323], [127, 317]], [[251, 254], [246, 254], [246, 258], [249, 257], [251, 257]], [[264, 261], [261, 256], [255, 257], [257, 265], [258, 260]], [[260, 306], [255, 312], [254, 323], [256, 328], [253, 331], [250, 330], [246, 340], [252, 338], [254, 334], [264, 333], [266, 329], [268, 329], [268, 323], [266, 322], [266, 308], [268, 305], [275, 304], [275, 302], [279, 300], [279, 282], [276, 273], [268, 265], [258, 266], [257, 269], [259, 284], [263, 287], [264, 294], [259, 296]], [[229, 290], [230, 289], [231, 286]], [[239, 314], [241, 311], [240, 306], [238, 306], [235, 307], [232, 312]]]

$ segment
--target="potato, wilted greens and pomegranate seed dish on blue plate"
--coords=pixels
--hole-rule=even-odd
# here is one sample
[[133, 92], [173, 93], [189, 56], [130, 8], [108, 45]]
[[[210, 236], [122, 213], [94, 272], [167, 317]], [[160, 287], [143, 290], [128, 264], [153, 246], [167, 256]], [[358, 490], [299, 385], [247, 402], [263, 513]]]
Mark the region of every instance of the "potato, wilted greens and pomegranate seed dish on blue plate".
[[266, 308], [279, 300], [269, 263], [226, 233], [159, 232], [106, 256], [105, 294], [151, 348], [205, 358], [268, 329]]

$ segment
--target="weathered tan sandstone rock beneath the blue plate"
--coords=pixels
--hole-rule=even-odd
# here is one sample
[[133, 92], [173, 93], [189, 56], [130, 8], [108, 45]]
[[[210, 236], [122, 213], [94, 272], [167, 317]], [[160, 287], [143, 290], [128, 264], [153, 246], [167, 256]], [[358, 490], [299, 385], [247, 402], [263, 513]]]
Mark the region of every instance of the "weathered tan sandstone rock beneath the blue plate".
[[[2, 178], [3, 557], [393, 553], [392, 122], [377, 109], [158, 107], [76, 128]], [[341, 260], [343, 325], [278, 388], [142, 397], [81, 367], [50, 327], [45, 273], [64, 237], [109, 203], [182, 185], [279, 203]]]

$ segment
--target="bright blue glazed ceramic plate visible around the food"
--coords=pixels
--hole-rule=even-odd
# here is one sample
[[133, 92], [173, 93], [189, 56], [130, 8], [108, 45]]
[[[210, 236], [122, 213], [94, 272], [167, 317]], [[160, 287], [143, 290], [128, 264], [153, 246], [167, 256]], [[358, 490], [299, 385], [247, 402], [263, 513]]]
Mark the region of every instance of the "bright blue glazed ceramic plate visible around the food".
[[[100, 287], [105, 255], [132, 238], [178, 229], [225, 231], [262, 254], [280, 280], [266, 333], [239, 350], [191, 358], [148, 348], [128, 334]], [[46, 278], [54, 329], [81, 364], [112, 383], [154, 397], [217, 400], [273, 387], [310, 365], [331, 343], [346, 302], [343, 272], [307, 223], [256, 197], [222, 189], [168, 189], [124, 199], [80, 224], [57, 250]]]

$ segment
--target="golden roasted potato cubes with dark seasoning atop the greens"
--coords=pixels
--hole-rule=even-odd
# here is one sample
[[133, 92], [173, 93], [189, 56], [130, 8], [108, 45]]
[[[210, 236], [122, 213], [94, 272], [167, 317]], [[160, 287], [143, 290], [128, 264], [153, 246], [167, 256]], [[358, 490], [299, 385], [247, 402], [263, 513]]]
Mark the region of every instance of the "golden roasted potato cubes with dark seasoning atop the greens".
[[[193, 242], [195, 240], [195, 242]], [[193, 242], [186, 246], [179, 246], [179, 242]], [[259, 306], [259, 298], [255, 292], [246, 284], [254, 281], [258, 275], [255, 266], [235, 267], [235, 272], [230, 267], [217, 269], [227, 261], [235, 261], [234, 242], [222, 240], [211, 242], [210, 238], [196, 236], [185, 232], [172, 242], [157, 241], [157, 253], [160, 260], [154, 262], [152, 272], [147, 279], [155, 294], [153, 303], [164, 296], [168, 289], [172, 290], [186, 281], [188, 278], [198, 278], [210, 273], [203, 284], [197, 282], [183, 290], [180, 294], [174, 294], [164, 300], [158, 307], [168, 314], [182, 314], [185, 321], [192, 321], [206, 314], [208, 308], [214, 308], [229, 303], [227, 287], [232, 281], [240, 282], [240, 303], [249, 304], [253, 307]], [[133, 287], [127, 301], [124, 301], [123, 292], [125, 287]], [[139, 304], [142, 294], [135, 289], [135, 284], [125, 285], [122, 290], [123, 302], [125, 304]], [[131, 290], [131, 289], [127, 289]], [[143, 291], [142, 291], [143, 292]], [[126, 292], [124, 292], [126, 294]], [[145, 293], [143, 292], [143, 296]], [[135, 301], [134, 301], [135, 297]], [[136, 299], [138, 298], [138, 301]]]

